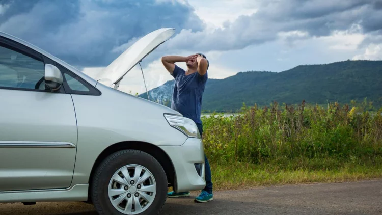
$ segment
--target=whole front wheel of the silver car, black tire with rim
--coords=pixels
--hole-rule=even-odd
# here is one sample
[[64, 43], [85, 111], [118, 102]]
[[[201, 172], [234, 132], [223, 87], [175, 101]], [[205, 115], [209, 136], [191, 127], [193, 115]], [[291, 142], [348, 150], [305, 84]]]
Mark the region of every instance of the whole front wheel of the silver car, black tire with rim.
[[[126, 169], [128, 172], [126, 172]], [[134, 172], [132, 172], [132, 169], [134, 169]], [[125, 174], [123, 174], [122, 171], [124, 171]], [[134, 181], [135, 186], [131, 184], [124, 185], [126, 182], [134, 183], [131, 179], [137, 178], [135, 172], [139, 172], [140, 174], [140, 180]], [[124, 175], [128, 176], [125, 177]], [[151, 175], [151, 177], [141, 183], [147, 175]], [[152, 186], [153, 184], [155, 186]], [[98, 166], [92, 179], [91, 195], [94, 207], [99, 214], [159, 214], [166, 202], [167, 186], [166, 173], [153, 156], [139, 150], [122, 150], [106, 157]], [[144, 187], [150, 187], [150, 191], [146, 192], [148, 188]], [[142, 192], [138, 190], [138, 188], [145, 190]], [[119, 194], [123, 190], [126, 190], [127, 193]], [[118, 191], [119, 193], [112, 197], [114, 191]], [[147, 194], [151, 196], [147, 196]], [[139, 197], [136, 197], [136, 195]], [[123, 198], [122, 203], [118, 203]], [[136, 201], [137, 199], [138, 201]], [[118, 205], [114, 206], [112, 201], [114, 205]], [[140, 201], [142, 201], [142, 203], [140, 203]], [[141, 207], [138, 208], [139, 206], [135, 206], [137, 205], [136, 203], [142, 204]], [[137, 208], [138, 211], [135, 208]], [[142, 208], [145, 209], [140, 213], [136, 213]], [[121, 210], [126, 210], [127, 212]]]

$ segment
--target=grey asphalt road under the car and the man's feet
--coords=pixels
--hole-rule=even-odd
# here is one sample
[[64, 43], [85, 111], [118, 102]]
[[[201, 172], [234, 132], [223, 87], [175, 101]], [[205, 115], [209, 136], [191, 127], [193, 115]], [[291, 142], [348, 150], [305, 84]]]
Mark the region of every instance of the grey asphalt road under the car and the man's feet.
[[[215, 192], [214, 200], [194, 203], [192, 197], [167, 199], [161, 214], [382, 214], [382, 180], [354, 183], [259, 187]], [[0, 204], [0, 214], [96, 215], [79, 202]]]

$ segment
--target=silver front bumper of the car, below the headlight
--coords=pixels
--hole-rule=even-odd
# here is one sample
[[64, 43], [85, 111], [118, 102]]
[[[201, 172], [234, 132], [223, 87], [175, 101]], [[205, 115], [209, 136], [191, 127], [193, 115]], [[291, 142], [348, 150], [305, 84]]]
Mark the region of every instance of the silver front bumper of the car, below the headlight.
[[197, 138], [188, 138], [181, 146], [161, 147], [170, 157], [175, 170], [176, 192], [204, 189], [205, 164], [203, 143]]

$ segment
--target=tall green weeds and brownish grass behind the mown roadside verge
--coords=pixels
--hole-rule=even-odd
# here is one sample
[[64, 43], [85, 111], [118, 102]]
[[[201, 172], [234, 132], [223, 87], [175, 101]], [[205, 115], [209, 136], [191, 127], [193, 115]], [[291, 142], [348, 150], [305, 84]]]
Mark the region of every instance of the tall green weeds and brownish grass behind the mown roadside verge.
[[330, 103], [243, 107], [237, 116], [202, 118], [205, 153], [215, 165], [331, 170], [382, 164], [382, 109]]

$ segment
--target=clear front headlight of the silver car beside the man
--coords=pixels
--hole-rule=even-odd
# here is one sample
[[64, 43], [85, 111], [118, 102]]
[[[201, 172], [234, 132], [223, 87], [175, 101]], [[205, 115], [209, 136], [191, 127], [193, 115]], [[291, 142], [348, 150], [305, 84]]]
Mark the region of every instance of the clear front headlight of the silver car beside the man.
[[169, 114], [165, 114], [165, 118], [172, 127], [182, 131], [188, 137], [200, 138], [198, 127], [192, 119]]

